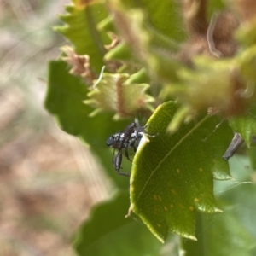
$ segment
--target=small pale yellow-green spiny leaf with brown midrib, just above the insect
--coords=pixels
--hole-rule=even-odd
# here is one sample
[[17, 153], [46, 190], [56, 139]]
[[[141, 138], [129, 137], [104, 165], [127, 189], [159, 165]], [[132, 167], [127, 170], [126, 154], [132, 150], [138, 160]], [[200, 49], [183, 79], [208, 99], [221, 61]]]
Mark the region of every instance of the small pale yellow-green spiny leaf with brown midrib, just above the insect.
[[84, 101], [96, 108], [91, 115], [113, 111], [118, 118], [129, 117], [140, 108], [152, 110], [150, 102], [154, 102], [154, 98], [145, 93], [149, 84], [125, 84], [129, 77], [127, 73], [103, 73], [102, 79], [88, 94], [90, 100]]

